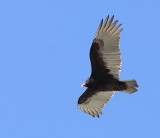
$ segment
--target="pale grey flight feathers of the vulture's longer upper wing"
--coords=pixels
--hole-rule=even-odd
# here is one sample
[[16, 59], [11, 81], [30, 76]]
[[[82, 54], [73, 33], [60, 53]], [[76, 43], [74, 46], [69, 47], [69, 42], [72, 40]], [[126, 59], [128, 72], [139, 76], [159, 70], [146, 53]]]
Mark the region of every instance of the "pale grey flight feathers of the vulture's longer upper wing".
[[[118, 20], [113, 22], [113, 19], [114, 16], [112, 16], [110, 19], [109, 16], [107, 16], [106, 21], [104, 23], [101, 22], [100, 28], [98, 28], [99, 31], [96, 33], [94, 39], [94, 42], [99, 44], [99, 49], [97, 55], [95, 55], [94, 53], [94, 56], [99, 56], [99, 58], [101, 58], [101, 60], [104, 63], [104, 66], [99, 66], [99, 67], [102, 68], [104, 67], [105, 69], [109, 69], [110, 70], [109, 73], [111, 75], [113, 75], [115, 78], [119, 78], [120, 65], [121, 65], [119, 39], [120, 39], [120, 32], [123, 29], [117, 30], [122, 24], [116, 26]], [[98, 67], [96, 69], [98, 70]]]

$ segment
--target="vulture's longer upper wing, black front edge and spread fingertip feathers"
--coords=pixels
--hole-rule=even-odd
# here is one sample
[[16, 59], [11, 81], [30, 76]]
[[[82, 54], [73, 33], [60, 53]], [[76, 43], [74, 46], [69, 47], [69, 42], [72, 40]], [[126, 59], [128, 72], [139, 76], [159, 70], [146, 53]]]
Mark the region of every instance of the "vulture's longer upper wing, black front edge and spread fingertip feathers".
[[92, 66], [91, 75], [119, 78], [121, 53], [119, 50], [120, 32], [122, 25], [116, 26], [118, 20], [113, 22], [114, 16], [101, 21], [90, 49]]

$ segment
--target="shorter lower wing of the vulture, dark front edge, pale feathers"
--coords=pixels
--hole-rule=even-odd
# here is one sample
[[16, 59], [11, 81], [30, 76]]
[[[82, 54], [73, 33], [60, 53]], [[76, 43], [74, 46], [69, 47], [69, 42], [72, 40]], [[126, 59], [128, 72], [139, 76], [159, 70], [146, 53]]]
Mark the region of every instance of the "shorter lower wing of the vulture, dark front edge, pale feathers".
[[99, 118], [102, 114], [102, 108], [110, 98], [114, 95], [114, 91], [98, 91], [96, 89], [87, 88], [87, 90], [78, 99], [78, 108], [89, 115]]

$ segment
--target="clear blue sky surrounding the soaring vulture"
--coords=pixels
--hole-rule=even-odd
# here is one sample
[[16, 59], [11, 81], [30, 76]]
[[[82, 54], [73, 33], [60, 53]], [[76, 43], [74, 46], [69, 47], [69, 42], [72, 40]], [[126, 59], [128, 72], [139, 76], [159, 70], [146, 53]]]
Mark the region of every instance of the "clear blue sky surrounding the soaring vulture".
[[[0, 138], [159, 138], [159, 0], [1, 0]], [[121, 79], [103, 116], [77, 109], [102, 18], [123, 23]]]

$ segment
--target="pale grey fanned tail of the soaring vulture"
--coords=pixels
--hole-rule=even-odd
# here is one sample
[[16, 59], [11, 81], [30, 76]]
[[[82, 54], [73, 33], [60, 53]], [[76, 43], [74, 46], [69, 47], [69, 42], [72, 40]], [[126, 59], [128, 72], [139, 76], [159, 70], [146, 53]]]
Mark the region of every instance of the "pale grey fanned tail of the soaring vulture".
[[123, 80], [122, 82], [126, 83], [127, 88], [124, 90], [121, 90], [121, 92], [134, 93], [137, 91], [138, 84], [136, 80]]

